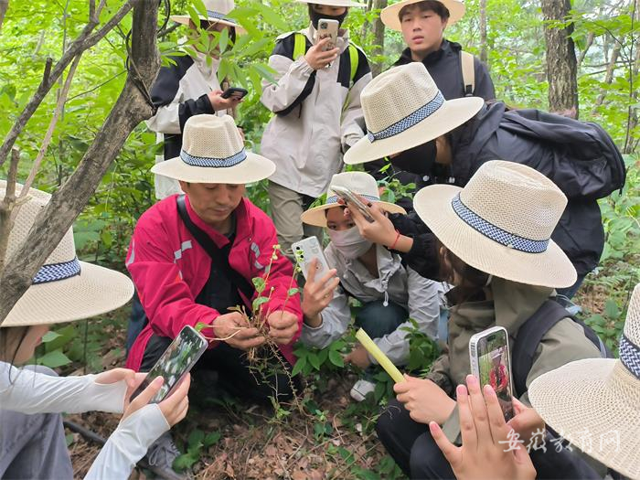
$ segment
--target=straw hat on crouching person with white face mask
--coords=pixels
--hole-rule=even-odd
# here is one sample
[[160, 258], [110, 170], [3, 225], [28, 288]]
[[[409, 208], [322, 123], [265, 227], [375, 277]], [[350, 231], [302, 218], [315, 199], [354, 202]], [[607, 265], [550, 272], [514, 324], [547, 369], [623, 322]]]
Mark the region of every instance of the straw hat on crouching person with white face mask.
[[370, 202], [377, 203], [389, 213], [407, 213], [405, 209], [399, 205], [380, 200], [378, 184], [373, 176], [370, 176], [365, 172], [344, 172], [336, 174], [331, 178], [329, 189], [326, 191], [325, 205], [309, 208], [303, 212], [300, 219], [302, 219], [304, 223], [315, 225], [316, 227], [326, 227], [325, 210], [339, 206], [337, 203], [338, 197], [331, 189], [333, 186], [348, 188], [360, 197], [364, 197]]

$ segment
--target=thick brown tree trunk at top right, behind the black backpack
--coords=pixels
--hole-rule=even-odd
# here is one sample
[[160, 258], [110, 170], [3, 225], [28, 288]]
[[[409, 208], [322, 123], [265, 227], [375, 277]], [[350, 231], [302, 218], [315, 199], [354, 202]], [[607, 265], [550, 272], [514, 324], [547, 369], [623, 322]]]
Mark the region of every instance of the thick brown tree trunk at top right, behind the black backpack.
[[[571, 0], [541, 0], [546, 22], [565, 22], [571, 10]], [[571, 34], [573, 24], [565, 28], [547, 26], [547, 80], [549, 80], [549, 110], [575, 112], [578, 118], [578, 76], [575, 46]]]

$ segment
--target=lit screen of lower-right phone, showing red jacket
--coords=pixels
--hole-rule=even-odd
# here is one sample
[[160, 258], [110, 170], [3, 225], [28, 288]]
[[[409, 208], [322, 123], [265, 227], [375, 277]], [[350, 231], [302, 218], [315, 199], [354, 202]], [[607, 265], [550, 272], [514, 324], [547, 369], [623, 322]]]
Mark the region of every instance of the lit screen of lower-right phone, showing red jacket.
[[514, 416], [511, 389], [511, 368], [507, 347], [507, 332], [498, 330], [478, 340], [478, 370], [480, 385], [496, 390], [497, 400], [509, 421]]

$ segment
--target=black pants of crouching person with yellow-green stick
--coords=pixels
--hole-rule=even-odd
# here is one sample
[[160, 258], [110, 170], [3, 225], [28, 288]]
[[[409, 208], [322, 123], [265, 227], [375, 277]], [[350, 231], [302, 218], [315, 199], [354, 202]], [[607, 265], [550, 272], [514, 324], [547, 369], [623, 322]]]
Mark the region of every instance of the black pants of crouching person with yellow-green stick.
[[455, 478], [453, 470], [433, 440], [429, 426], [411, 419], [398, 400], [390, 400], [376, 424], [380, 442], [412, 479]]

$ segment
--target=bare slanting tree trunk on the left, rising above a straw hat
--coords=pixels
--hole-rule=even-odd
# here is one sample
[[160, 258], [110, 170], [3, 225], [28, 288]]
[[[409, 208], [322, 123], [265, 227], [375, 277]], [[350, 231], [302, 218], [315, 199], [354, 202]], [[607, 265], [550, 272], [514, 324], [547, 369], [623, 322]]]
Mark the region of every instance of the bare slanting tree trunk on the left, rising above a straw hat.
[[0, 272], [0, 324], [87, 205], [129, 133], [153, 114], [148, 89], [160, 67], [155, 45], [157, 11], [157, 0], [139, 0], [135, 3], [130, 70], [120, 97], [76, 171], [37, 215], [29, 230], [28, 241], [7, 259], [4, 271]]

